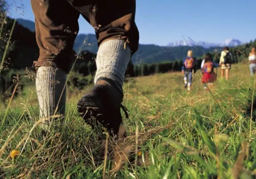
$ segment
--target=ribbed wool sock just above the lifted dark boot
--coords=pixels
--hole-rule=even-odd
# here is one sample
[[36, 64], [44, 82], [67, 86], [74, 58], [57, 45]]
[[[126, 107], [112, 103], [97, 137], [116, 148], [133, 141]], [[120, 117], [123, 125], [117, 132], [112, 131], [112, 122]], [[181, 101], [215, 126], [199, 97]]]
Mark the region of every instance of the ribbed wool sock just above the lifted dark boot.
[[112, 79], [122, 91], [123, 79], [131, 59], [131, 50], [124, 40], [110, 39], [100, 44], [96, 57], [94, 82], [101, 77]]

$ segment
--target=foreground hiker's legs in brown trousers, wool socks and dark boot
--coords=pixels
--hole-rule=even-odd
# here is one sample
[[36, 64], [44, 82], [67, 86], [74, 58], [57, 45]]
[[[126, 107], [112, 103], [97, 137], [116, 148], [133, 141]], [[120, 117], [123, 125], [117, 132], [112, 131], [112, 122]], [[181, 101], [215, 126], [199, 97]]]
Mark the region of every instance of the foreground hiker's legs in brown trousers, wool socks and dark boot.
[[40, 117], [53, 116], [55, 110], [57, 114], [65, 115], [66, 74], [79, 31], [78, 18], [82, 15], [95, 29], [99, 49], [95, 86], [79, 100], [77, 109], [88, 124], [94, 126], [98, 121], [113, 137], [125, 135], [124, 128], [120, 127], [120, 108], [128, 117], [126, 108], [121, 105], [122, 85], [127, 64], [139, 43], [135, 24], [136, 0], [31, 0], [31, 5], [40, 51], [33, 64]]

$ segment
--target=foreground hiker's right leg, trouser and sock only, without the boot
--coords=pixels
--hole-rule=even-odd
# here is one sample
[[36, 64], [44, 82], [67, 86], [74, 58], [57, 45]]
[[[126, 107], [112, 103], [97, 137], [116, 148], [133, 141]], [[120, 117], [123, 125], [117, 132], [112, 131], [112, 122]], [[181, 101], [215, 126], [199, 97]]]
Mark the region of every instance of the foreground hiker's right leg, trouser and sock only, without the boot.
[[[95, 83], [101, 77], [112, 79], [122, 91], [124, 73], [131, 55], [138, 49], [135, 24], [136, 1], [69, 0], [95, 29], [99, 50]], [[96, 2], [96, 3], [95, 3]], [[92, 11], [91, 11], [92, 10]]]

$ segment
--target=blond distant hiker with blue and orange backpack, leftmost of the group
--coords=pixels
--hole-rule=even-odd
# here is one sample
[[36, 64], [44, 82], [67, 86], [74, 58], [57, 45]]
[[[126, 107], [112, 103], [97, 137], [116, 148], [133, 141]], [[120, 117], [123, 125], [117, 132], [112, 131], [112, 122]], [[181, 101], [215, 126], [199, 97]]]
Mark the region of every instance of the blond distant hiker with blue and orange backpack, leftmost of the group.
[[190, 91], [192, 87], [193, 72], [196, 73], [196, 63], [197, 59], [193, 57], [193, 51], [189, 50], [187, 52], [187, 57], [183, 60], [181, 68], [182, 74], [184, 75], [184, 87], [187, 88], [188, 91]]

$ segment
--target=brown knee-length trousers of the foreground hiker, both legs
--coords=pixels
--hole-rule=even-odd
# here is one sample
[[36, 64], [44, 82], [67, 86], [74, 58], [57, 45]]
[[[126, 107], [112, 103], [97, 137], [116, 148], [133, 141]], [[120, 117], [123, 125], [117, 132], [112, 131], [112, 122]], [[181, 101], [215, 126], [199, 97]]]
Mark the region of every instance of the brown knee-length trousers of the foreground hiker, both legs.
[[95, 29], [98, 46], [111, 38], [125, 40], [134, 54], [139, 31], [135, 24], [136, 0], [31, 0], [35, 15], [39, 66], [56, 66], [68, 73], [81, 14]]

